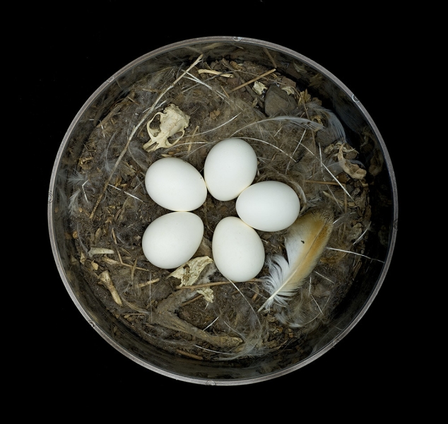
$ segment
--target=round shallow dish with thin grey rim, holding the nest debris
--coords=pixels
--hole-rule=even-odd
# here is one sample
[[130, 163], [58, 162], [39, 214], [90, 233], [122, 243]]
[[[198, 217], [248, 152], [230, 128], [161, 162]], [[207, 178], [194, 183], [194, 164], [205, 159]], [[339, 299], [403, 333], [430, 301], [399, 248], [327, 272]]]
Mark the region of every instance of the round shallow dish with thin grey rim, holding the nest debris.
[[[223, 89], [218, 95], [216, 87]], [[197, 93], [191, 95], [194, 90]], [[207, 90], [216, 98], [204, 102]], [[152, 142], [161, 131], [155, 114], [161, 117], [171, 104], [187, 114], [189, 122], [159, 147]], [[246, 125], [257, 122], [257, 127], [242, 125], [242, 116]], [[291, 123], [293, 119], [285, 117], [302, 121]], [[267, 126], [261, 127], [261, 121]], [[261, 137], [264, 131], [269, 135]], [[280, 141], [278, 134], [284, 135]], [[292, 313], [279, 317], [281, 308], [258, 311], [268, 298], [260, 281], [269, 273], [268, 266], [257, 281], [209, 285], [213, 300], [201, 293], [201, 299], [190, 302], [196, 291], [179, 289], [179, 278], [171, 275], [174, 270], [153, 269], [141, 254], [139, 235], [151, 220], [167, 213], [151, 203], [142, 184], [148, 165], [162, 155], [176, 155], [202, 172], [207, 151], [229, 136], [239, 136], [256, 149], [257, 181], [275, 175], [295, 187], [302, 211], [324, 206], [336, 212], [334, 239], [320, 268], [307, 276], [291, 302], [297, 310], [299, 297], [305, 296], [300, 290], [305, 293], [307, 288], [307, 300], [314, 302], [307, 310], [313, 324]], [[285, 143], [287, 136], [295, 143]], [[314, 143], [316, 150], [310, 152], [307, 143]], [[314, 169], [315, 179], [304, 175], [305, 165]], [[341, 176], [336, 180], [334, 175]], [[396, 239], [394, 171], [365, 108], [319, 64], [260, 40], [185, 40], [117, 71], [73, 119], [59, 148], [49, 191], [54, 259], [81, 314], [136, 363], [198, 384], [272, 379], [329, 351], [375, 299]], [[219, 204], [210, 196], [207, 202], [196, 213], [204, 221], [205, 241], [210, 242], [217, 221], [234, 215], [235, 204]], [[266, 257], [285, 254], [285, 232], [259, 234]], [[340, 234], [345, 244], [337, 245]], [[205, 243], [195, 257], [210, 257], [207, 247]], [[204, 287], [206, 281], [223, 281], [213, 261], [205, 264], [204, 273]], [[176, 301], [164, 303], [168, 298]], [[243, 304], [253, 316], [241, 324], [229, 310]], [[225, 338], [220, 346], [215, 344], [218, 337]], [[230, 346], [233, 338], [238, 340]]]

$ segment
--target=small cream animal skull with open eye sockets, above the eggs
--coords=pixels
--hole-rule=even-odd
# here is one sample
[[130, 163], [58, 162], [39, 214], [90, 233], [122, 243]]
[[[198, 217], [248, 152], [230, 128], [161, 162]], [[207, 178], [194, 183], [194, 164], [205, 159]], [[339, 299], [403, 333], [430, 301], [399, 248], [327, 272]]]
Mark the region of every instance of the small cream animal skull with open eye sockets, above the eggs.
[[[160, 128], [152, 129], [150, 128], [151, 122], [154, 118], [160, 116]], [[143, 149], [147, 152], [153, 152], [158, 148], [172, 147], [182, 139], [185, 134], [185, 128], [189, 124], [190, 117], [184, 114], [182, 110], [179, 109], [175, 104], [171, 103], [169, 106], [165, 107], [163, 112], [158, 112], [153, 116], [153, 119], [146, 124], [146, 129], [148, 129], [148, 134], [150, 141], [143, 145]], [[169, 143], [168, 139], [174, 134], [182, 132], [174, 142]]]

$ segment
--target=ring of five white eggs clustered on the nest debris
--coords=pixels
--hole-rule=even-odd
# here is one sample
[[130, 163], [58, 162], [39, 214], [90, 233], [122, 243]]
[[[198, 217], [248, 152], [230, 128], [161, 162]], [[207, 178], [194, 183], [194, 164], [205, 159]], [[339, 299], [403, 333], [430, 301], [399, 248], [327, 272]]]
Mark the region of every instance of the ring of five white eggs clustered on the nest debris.
[[146, 190], [153, 201], [167, 208], [143, 234], [148, 261], [163, 269], [181, 266], [194, 256], [204, 235], [204, 223], [191, 211], [206, 200], [207, 191], [220, 201], [236, 199], [238, 217], [220, 220], [213, 233], [213, 260], [231, 281], [247, 281], [264, 265], [264, 246], [257, 230], [288, 228], [297, 218], [300, 201], [287, 184], [275, 181], [252, 184], [257, 154], [242, 139], [216, 143], [204, 164], [204, 178], [179, 158], [156, 160], [146, 172]]

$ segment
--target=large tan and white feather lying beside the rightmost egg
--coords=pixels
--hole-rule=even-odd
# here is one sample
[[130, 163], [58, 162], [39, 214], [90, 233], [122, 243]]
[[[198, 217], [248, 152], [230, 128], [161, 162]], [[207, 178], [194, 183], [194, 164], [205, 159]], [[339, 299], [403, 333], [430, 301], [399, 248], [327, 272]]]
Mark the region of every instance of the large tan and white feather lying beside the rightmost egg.
[[269, 298], [259, 308], [269, 309], [273, 302], [285, 306], [288, 298], [310, 275], [324, 252], [333, 229], [334, 216], [329, 209], [315, 209], [299, 216], [285, 237], [288, 260], [278, 254], [268, 259], [269, 276], [263, 278]]

